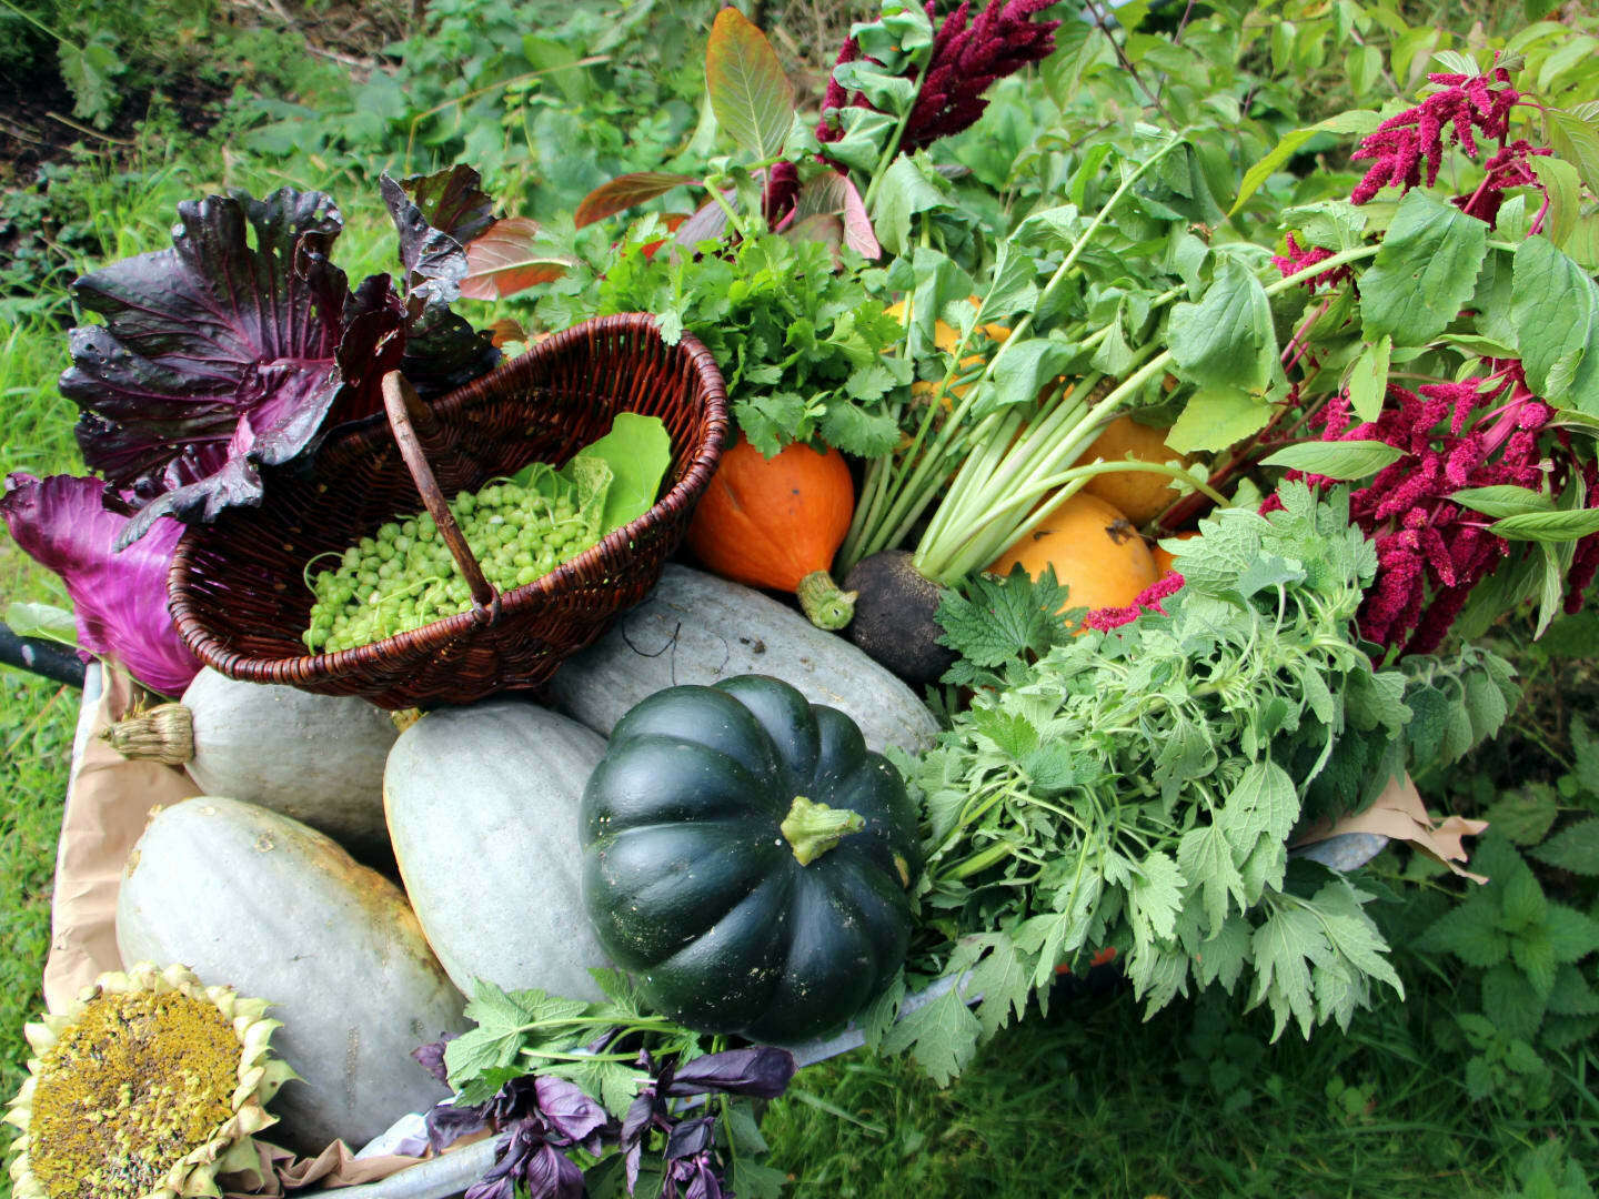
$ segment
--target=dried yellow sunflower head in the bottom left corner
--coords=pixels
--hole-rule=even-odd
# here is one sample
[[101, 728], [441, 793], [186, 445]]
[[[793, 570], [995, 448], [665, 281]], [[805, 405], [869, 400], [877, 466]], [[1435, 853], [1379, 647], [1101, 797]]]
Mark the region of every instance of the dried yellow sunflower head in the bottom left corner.
[[217, 1194], [216, 1173], [254, 1167], [251, 1135], [277, 1122], [264, 1105], [294, 1078], [265, 1007], [141, 964], [27, 1025], [35, 1057], [5, 1117], [22, 1130], [18, 1199]]

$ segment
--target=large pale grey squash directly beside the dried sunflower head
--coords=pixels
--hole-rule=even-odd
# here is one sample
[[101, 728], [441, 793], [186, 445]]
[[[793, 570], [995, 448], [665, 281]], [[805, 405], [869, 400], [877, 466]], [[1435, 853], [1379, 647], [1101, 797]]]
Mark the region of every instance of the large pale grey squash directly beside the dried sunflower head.
[[209, 796], [157, 809], [123, 871], [117, 948], [272, 1001], [273, 1047], [302, 1079], [272, 1109], [297, 1149], [360, 1146], [448, 1095], [411, 1050], [469, 1028], [465, 999], [400, 889], [288, 817]]

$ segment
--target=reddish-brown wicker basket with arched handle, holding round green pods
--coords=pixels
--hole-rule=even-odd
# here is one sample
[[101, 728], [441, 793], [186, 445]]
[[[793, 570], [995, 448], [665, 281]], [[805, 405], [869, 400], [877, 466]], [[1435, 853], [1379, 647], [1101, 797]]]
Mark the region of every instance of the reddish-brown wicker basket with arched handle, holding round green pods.
[[[177, 544], [168, 595], [179, 635], [208, 667], [253, 683], [363, 695], [384, 708], [469, 703], [531, 687], [636, 604], [688, 529], [728, 433], [710, 352], [684, 334], [667, 345], [652, 317], [603, 317], [556, 334], [432, 408], [384, 380], [387, 422], [368, 417], [329, 438], [310, 468], [267, 470], [259, 508], [229, 508]], [[563, 464], [617, 412], [657, 416], [672, 435], [667, 494], [545, 577], [499, 595], [445, 507], [529, 462]], [[401, 513], [417, 492], [472, 585], [473, 607], [357, 649], [307, 654], [315, 596], [302, 580]]]

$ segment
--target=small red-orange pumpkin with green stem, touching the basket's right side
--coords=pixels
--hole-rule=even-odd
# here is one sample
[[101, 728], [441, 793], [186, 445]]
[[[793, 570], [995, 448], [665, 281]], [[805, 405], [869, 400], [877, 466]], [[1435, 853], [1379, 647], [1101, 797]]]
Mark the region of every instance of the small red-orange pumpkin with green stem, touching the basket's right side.
[[812, 623], [843, 628], [855, 596], [828, 568], [854, 512], [855, 484], [836, 449], [793, 443], [768, 459], [740, 433], [694, 510], [688, 544], [723, 579], [792, 592]]

